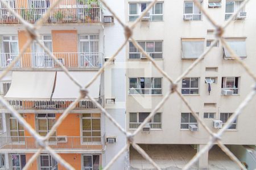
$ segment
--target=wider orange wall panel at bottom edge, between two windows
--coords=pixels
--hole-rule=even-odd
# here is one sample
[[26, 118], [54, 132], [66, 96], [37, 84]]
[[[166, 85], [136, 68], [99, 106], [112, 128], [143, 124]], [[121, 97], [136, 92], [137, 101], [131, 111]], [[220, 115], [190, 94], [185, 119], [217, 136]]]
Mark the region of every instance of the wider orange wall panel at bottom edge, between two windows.
[[[75, 169], [81, 169], [81, 154], [59, 154], [61, 158], [67, 161]], [[58, 164], [59, 170], [64, 170], [65, 168]]]

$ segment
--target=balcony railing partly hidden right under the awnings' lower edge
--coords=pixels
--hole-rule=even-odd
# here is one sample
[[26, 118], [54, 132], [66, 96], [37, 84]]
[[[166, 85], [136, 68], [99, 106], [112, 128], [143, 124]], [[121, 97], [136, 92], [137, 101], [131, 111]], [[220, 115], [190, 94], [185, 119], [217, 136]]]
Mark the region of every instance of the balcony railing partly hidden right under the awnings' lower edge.
[[[43, 110], [64, 110], [72, 103], [72, 101], [22, 101], [22, 100], [10, 100], [10, 105], [14, 109], [26, 110], [26, 109], [43, 109]], [[101, 104], [101, 99], [98, 100]], [[94, 109], [97, 108], [92, 101], [80, 101], [75, 110], [79, 109]], [[0, 109], [5, 109], [3, 104], [0, 104]]]

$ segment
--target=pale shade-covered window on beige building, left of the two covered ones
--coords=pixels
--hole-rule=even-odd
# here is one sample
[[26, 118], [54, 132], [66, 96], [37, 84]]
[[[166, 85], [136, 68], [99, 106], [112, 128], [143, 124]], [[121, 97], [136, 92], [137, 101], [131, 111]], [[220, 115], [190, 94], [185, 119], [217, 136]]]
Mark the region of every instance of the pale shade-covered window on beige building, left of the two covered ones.
[[181, 39], [181, 57], [184, 59], [199, 58], [204, 52], [204, 39]]

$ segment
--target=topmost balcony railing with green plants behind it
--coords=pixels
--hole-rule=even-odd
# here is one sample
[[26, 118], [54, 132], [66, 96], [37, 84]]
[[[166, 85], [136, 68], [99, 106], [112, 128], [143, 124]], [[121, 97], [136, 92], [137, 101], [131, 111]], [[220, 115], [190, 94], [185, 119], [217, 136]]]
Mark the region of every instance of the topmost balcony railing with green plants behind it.
[[[35, 23], [55, 0], [5, 0], [27, 22]], [[102, 10], [100, 1], [61, 1], [51, 10], [44, 23], [100, 23]], [[0, 23], [19, 23], [19, 20], [0, 2]]]

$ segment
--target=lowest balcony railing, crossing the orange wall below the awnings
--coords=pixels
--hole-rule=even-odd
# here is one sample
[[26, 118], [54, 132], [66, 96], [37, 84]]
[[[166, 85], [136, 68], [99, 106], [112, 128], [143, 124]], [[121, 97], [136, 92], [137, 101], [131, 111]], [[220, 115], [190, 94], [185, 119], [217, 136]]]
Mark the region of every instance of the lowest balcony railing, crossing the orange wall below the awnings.
[[[104, 136], [102, 137], [50, 137], [48, 145], [55, 150], [103, 150]], [[0, 135], [0, 150], [36, 150], [38, 144], [32, 136], [14, 137], [7, 133]]]

